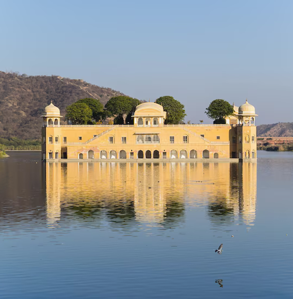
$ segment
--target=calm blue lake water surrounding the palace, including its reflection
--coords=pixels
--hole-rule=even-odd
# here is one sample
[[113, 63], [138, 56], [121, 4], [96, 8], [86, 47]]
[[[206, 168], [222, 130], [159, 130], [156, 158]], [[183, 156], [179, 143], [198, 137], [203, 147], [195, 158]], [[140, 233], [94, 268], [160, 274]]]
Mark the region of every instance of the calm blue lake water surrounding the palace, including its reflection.
[[293, 153], [243, 165], [9, 154], [1, 298], [293, 297]]

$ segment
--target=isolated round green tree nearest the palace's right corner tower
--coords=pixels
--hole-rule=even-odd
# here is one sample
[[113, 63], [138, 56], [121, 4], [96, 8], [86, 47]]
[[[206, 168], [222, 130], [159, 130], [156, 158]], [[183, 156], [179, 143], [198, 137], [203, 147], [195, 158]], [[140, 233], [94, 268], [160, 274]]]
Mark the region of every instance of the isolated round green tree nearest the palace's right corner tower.
[[214, 124], [226, 124], [225, 117], [234, 113], [233, 106], [225, 101], [225, 99], [219, 98], [211, 102], [210, 106], [206, 110], [207, 111], [205, 113], [208, 117], [214, 119]]

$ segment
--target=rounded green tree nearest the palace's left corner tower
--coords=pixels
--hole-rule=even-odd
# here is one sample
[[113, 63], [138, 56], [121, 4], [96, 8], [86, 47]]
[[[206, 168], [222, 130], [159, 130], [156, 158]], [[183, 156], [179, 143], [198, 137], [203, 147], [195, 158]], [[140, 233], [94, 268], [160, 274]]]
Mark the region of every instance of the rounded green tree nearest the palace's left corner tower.
[[66, 107], [66, 118], [74, 125], [86, 125], [93, 112], [85, 103], [74, 103]]

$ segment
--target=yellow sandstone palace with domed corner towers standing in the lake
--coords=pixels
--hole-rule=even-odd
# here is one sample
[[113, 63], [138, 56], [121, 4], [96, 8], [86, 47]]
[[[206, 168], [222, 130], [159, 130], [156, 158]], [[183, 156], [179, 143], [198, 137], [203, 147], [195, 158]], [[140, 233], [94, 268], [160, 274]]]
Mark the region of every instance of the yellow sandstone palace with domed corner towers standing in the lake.
[[163, 107], [143, 103], [132, 116], [134, 125], [60, 125], [60, 110], [51, 103], [42, 115], [42, 158], [251, 161], [257, 158], [255, 116], [246, 101], [234, 106], [226, 125], [164, 125]]

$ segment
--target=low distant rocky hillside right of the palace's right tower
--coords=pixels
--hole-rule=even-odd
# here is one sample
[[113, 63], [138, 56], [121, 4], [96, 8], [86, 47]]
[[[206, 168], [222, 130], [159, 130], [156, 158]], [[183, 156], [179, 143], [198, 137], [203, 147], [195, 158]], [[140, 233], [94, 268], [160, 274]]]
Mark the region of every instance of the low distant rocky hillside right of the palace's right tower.
[[293, 123], [278, 123], [257, 127], [258, 137], [290, 137], [293, 136]]

